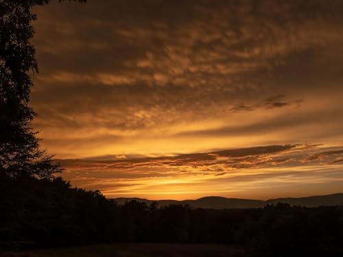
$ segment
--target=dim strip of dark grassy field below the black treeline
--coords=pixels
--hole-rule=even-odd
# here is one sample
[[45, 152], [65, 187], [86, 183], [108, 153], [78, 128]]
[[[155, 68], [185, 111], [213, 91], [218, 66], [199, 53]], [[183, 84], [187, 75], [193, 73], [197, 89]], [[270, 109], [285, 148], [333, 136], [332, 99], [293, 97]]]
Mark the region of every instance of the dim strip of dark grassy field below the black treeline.
[[226, 245], [196, 244], [115, 244], [58, 249], [38, 249], [25, 252], [0, 252], [0, 257], [240, 257], [244, 251]]

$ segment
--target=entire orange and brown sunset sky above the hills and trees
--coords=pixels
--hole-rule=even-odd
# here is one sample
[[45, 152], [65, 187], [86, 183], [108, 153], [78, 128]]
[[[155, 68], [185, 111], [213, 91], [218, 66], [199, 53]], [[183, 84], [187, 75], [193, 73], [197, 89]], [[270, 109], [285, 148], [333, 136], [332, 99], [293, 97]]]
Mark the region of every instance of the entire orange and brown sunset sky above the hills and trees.
[[35, 8], [33, 126], [107, 197], [343, 192], [343, 2]]

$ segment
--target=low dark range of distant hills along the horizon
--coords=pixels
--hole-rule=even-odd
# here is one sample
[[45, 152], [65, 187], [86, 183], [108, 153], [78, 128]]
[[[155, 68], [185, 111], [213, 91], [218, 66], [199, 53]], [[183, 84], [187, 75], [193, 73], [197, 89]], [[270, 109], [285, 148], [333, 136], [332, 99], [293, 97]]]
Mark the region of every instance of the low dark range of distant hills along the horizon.
[[236, 199], [226, 197], [202, 197], [196, 200], [158, 200], [152, 201], [142, 198], [115, 198], [118, 204], [125, 204], [128, 201], [141, 201], [145, 204], [150, 205], [156, 202], [157, 206], [167, 206], [169, 204], [187, 204], [192, 208], [205, 208], [205, 209], [236, 209], [236, 208], [259, 208], [266, 204], [277, 204], [284, 203], [290, 204], [291, 206], [305, 206], [305, 207], [316, 207], [316, 206], [343, 206], [343, 193], [337, 193], [333, 195], [318, 195], [311, 197], [299, 197], [299, 198], [278, 198], [269, 199], [267, 201], [253, 200], [253, 199]]

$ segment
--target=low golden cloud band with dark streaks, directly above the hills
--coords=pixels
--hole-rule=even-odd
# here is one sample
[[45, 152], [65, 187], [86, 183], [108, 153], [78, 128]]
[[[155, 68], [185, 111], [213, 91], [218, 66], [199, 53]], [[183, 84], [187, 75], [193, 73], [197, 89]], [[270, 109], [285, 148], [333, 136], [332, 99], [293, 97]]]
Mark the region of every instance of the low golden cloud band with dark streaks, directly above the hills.
[[342, 190], [343, 147], [270, 145], [155, 158], [60, 160], [74, 186], [107, 197], [289, 197]]

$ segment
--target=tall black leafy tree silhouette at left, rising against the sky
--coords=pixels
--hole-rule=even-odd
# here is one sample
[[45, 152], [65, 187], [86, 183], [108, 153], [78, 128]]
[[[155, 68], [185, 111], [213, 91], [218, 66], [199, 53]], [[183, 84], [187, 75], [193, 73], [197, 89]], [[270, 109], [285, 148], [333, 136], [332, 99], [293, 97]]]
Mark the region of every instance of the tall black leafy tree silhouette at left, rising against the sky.
[[[83, 0], [79, 0], [83, 2]], [[0, 0], [0, 174], [52, 178], [61, 171], [51, 156], [39, 148], [31, 122], [36, 112], [29, 107], [33, 86], [29, 73], [38, 73], [31, 22], [35, 5], [49, 0]]]

